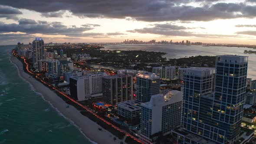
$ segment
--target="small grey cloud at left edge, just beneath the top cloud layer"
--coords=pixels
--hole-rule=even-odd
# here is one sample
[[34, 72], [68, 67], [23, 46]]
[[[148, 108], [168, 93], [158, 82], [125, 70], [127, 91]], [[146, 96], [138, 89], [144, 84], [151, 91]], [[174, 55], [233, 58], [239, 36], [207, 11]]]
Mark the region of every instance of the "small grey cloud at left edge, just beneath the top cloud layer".
[[22, 12], [13, 7], [0, 5], [0, 17], [17, 20], [18, 14], [22, 14]]

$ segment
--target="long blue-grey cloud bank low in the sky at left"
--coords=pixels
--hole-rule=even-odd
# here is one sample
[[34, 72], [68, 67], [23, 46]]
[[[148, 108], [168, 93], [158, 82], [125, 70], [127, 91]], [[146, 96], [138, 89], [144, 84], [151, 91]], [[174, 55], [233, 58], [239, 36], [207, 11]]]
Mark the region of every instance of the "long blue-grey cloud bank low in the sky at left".
[[23, 32], [23, 33], [42, 33], [42, 34], [61, 34], [61, 33], [82, 33], [92, 27], [68, 27], [60, 22], [47, 23], [45, 21], [34, 21], [29, 19], [19, 20], [19, 24], [0, 23], [0, 33]]

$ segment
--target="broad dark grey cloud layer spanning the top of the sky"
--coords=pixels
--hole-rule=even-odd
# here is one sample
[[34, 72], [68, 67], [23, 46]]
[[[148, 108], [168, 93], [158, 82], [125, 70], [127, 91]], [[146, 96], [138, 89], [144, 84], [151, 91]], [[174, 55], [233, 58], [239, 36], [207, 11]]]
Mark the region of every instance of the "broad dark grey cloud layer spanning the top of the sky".
[[[254, 5], [218, 3], [218, 0], [25, 0], [25, 2], [26, 4], [24, 4], [24, 0], [1, 0], [0, 4], [41, 13], [69, 10], [73, 15], [80, 17], [121, 19], [130, 17], [149, 22], [210, 21], [256, 16], [256, 6]], [[190, 2], [201, 3], [201, 7], [188, 6], [187, 3]]]

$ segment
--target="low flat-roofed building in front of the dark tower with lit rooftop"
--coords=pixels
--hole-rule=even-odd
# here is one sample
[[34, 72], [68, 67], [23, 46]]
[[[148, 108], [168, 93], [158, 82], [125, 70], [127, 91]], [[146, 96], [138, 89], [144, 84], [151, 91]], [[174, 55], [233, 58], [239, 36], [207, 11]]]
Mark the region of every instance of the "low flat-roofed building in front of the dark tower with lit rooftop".
[[117, 104], [118, 115], [133, 121], [140, 118], [141, 114], [141, 102], [135, 100], [128, 100], [118, 102]]

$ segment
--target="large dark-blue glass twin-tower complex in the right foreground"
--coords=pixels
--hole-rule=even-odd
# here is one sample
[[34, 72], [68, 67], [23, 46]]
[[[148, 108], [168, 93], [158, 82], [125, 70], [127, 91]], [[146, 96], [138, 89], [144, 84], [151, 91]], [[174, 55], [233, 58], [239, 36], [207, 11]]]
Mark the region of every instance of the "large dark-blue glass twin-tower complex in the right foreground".
[[217, 56], [210, 69], [189, 68], [184, 75], [183, 126], [173, 131], [179, 144], [233, 144], [240, 134], [248, 57]]

